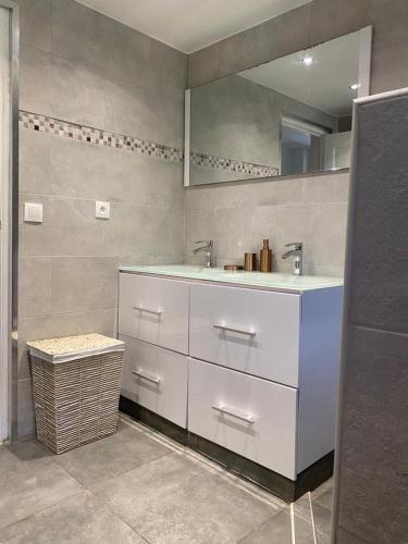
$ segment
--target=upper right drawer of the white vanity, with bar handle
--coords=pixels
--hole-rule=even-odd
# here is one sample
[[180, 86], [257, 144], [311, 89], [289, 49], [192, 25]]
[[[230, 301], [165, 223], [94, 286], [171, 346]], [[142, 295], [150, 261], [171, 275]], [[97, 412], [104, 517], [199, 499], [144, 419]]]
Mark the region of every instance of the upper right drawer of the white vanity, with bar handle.
[[191, 285], [190, 356], [298, 386], [300, 296]]

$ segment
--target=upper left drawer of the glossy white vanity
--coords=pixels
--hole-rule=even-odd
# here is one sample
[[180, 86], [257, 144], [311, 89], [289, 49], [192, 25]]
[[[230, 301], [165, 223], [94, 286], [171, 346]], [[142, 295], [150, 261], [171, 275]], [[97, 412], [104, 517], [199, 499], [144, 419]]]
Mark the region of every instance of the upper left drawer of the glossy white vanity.
[[119, 332], [188, 354], [188, 284], [120, 274]]

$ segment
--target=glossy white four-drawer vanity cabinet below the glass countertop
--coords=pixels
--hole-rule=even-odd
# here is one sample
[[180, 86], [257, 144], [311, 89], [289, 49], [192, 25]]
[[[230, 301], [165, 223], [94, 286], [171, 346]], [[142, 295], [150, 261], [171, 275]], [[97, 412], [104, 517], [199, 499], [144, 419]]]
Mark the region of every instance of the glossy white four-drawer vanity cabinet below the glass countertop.
[[334, 449], [341, 284], [120, 276], [124, 397], [290, 481]]

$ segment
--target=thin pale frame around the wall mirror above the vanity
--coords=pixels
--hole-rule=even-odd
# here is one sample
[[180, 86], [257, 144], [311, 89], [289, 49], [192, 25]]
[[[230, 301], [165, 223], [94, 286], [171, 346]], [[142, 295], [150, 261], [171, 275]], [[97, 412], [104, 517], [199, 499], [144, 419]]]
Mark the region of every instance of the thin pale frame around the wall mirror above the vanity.
[[[372, 50], [372, 26], [364, 26], [360, 28], [359, 30], [354, 30], [354, 32], [359, 32], [360, 33], [360, 52], [359, 52], [359, 74], [358, 74], [358, 81], [360, 83], [360, 87], [358, 89], [357, 94], [357, 99], [360, 99], [362, 97], [367, 97], [370, 95], [370, 76], [371, 76], [371, 50]], [[353, 34], [353, 33], [347, 33], [347, 34]], [[336, 36], [336, 38], [341, 38], [344, 36], [347, 36], [347, 34], [344, 34], [343, 36]], [[336, 39], [332, 38], [332, 39]], [[327, 40], [332, 41], [332, 40]], [[326, 44], [327, 41], [324, 41], [323, 44]], [[312, 49], [313, 47], [321, 46], [323, 44], [316, 44], [314, 46], [308, 48]], [[281, 57], [282, 59], [284, 57]], [[272, 59], [272, 60], [277, 60], [277, 59]], [[271, 62], [271, 61], [269, 61]], [[251, 67], [256, 66], [261, 66], [262, 64], [267, 64], [265, 62], [262, 62], [261, 64], [255, 64], [254, 66], [248, 66], [246, 70], [250, 70]], [[230, 74], [224, 77], [220, 77], [220, 79], [224, 79], [225, 77], [231, 77], [232, 75], [236, 74]], [[213, 82], [220, 81], [220, 79], [214, 79]], [[213, 82], [208, 82], [205, 85], [210, 85]], [[205, 86], [202, 85], [202, 86]], [[198, 86], [197, 86], [198, 87]], [[193, 87], [195, 88], [195, 87]], [[227, 182], [214, 182], [214, 183], [202, 183], [202, 184], [191, 184], [190, 183], [190, 119], [191, 119], [191, 88], [188, 88], [185, 90], [184, 94], [184, 187], [200, 187], [200, 186], [217, 186], [217, 185], [223, 185], [225, 183], [246, 183], [246, 182], [270, 182], [270, 181], [280, 181], [284, 180], [286, 177], [304, 177], [305, 175], [310, 175], [310, 174], [330, 174], [330, 173], [336, 173], [336, 172], [344, 172], [347, 171], [348, 169], [335, 169], [335, 170], [317, 170], [317, 171], [310, 171], [310, 172], [302, 172], [299, 174], [290, 174], [289, 176], [286, 175], [276, 175], [273, 177], [248, 177], [247, 180], [230, 180]]]

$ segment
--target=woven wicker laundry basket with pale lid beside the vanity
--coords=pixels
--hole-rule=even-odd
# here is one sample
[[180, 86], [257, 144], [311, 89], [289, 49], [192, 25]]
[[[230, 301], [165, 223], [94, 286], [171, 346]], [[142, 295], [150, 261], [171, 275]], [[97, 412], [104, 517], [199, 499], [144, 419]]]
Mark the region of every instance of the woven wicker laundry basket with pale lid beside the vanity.
[[124, 342], [85, 334], [27, 345], [38, 440], [62, 454], [113, 434]]

